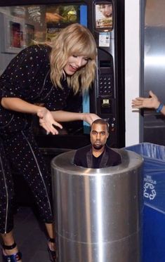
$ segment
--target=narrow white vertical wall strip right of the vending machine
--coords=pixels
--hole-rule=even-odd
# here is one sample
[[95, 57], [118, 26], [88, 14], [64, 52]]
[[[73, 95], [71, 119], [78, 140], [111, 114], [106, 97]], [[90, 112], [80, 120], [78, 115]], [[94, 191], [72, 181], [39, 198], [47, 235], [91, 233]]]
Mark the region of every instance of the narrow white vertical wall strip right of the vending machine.
[[139, 143], [139, 113], [131, 100], [140, 86], [140, 0], [125, 0], [126, 146]]

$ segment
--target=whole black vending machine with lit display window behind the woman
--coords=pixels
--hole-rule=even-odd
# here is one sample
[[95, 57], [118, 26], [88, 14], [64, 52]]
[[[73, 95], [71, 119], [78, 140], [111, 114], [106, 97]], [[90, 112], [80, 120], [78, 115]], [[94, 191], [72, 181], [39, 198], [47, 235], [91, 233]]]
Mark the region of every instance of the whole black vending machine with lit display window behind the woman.
[[[34, 41], [51, 41], [63, 27], [74, 22], [88, 27], [95, 37], [97, 70], [89, 93], [71, 94], [65, 110], [93, 112], [106, 119], [110, 124], [108, 145], [124, 147], [124, 1], [1, 0], [0, 73], [23, 48]], [[34, 117], [37, 143], [46, 154], [55, 155], [90, 143], [90, 126], [85, 122], [62, 125], [58, 136], [46, 135]]]

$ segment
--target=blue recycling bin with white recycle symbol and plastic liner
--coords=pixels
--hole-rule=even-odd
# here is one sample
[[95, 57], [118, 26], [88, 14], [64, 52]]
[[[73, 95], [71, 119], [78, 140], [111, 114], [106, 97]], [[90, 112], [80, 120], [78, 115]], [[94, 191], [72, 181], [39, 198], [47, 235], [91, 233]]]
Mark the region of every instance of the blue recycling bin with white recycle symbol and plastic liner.
[[165, 146], [140, 143], [126, 147], [143, 163], [143, 262], [165, 261]]

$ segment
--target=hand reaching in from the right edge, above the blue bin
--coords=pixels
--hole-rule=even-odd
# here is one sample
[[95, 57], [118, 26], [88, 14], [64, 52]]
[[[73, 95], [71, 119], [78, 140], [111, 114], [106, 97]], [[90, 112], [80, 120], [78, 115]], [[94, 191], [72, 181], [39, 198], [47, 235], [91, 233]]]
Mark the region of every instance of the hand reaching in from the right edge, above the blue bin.
[[149, 92], [150, 98], [135, 98], [132, 100], [133, 108], [155, 108], [157, 109], [160, 102], [156, 95], [152, 91]]

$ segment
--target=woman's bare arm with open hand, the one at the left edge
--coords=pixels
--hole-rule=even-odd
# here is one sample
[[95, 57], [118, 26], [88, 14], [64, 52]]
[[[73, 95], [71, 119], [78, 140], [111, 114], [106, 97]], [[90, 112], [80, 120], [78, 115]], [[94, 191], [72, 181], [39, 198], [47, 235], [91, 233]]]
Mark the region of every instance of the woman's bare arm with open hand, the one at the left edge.
[[27, 114], [37, 114], [37, 116], [41, 120], [40, 125], [48, 133], [53, 133], [53, 135], [58, 134], [58, 131], [53, 127], [53, 125], [58, 126], [60, 127], [60, 129], [62, 129], [61, 124], [53, 119], [51, 112], [47, 110], [46, 107], [27, 103], [25, 100], [22, 100], [20, 98], [1, 98], [1, 105], [8, 110]]

